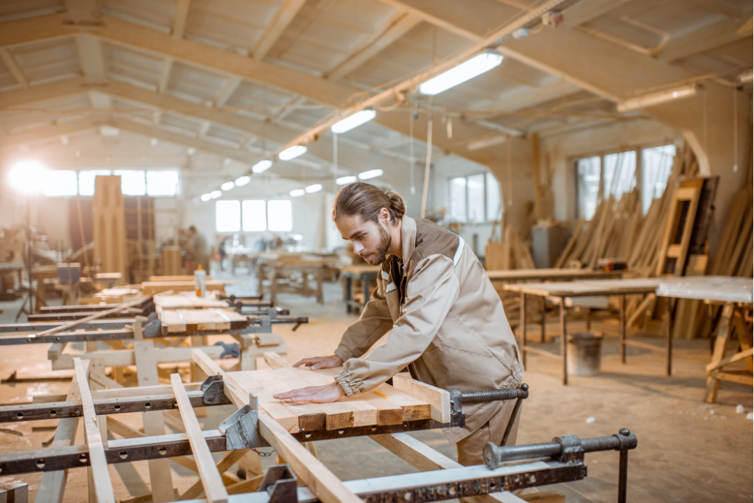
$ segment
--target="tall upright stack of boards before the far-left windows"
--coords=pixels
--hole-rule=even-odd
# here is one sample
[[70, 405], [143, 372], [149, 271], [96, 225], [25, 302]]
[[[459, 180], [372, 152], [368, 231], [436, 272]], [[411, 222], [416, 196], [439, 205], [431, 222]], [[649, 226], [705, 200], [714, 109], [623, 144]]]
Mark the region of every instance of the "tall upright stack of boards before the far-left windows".
[[97, 176], [93, 201], [94, 259], [101, 272], [120, 272], [126, 283], [126, 215], [120, 176]]

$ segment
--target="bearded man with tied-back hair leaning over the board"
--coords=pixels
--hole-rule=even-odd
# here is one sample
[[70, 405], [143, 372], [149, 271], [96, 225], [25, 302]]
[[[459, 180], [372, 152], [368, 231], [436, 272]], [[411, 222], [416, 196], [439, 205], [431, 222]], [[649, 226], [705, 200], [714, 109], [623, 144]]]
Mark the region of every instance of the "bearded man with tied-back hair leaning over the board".
[[[336, 382], [276, 398], [332, 402], [370, 391], [405, 367], [414, 379], [438, 388], [476, 391], [521, 384], [516, 340], [474, 252], [452, 232], [404, 216], [405, 211], [400, 195], [366, 183], [345, 186], [336, 196], [333, 220], [342, 237], [351, 241], [354, 253], [382, 265], [378, 287], [335, 354], [295, 365], [343, 365]], [[372, 348], [388, 332], [385, 341]], [[466, 425], [443, 430], [449, 442], [457, 444], [458, 462], [481, 464], [483, 446], [501, 443], [512, 411], [513, 400], [464, 405]], [[517, 421], [509, 445], [515, 443]]]

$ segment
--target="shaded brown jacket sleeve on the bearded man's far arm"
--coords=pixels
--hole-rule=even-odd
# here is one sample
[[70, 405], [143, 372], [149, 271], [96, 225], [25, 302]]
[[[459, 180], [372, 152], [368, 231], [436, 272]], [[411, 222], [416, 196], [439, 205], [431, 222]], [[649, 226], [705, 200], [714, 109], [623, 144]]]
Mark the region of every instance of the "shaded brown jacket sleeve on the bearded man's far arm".
[[380, 290], [384, 290], [382, 278], [379, 279], [377, 288], [372, 291], [369, 302], [366, 302], [359, 321], [348, 327], [340, 339], [335, 354], [344, 362], [369, 351], [369, 348], [393, 326], [388, 301]]

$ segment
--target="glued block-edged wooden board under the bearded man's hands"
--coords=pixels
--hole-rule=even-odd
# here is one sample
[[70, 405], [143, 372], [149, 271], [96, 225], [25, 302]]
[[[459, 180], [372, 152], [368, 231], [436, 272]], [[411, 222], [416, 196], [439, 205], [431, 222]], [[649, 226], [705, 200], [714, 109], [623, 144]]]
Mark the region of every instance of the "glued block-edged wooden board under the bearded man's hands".
[[387, 384], [333, 403], [293, 403], [273, 398], [276, 393], [292, 389], [332, 384], [335, 380], [333, 372], [283, 368], [229, 372], [227, 375], [246, 394], [254, 394], [259, 408], [291, 433], [400, 425], [407, 421], [431, 419], [432, 416], [429, 400], [412, 397]]

